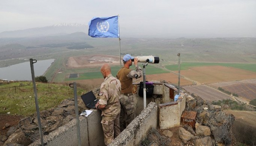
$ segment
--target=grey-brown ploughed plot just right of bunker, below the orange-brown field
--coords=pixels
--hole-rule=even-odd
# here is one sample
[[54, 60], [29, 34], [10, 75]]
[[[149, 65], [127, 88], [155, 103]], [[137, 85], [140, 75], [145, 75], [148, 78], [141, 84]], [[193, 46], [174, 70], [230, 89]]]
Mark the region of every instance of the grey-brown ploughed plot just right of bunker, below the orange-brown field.
[[190, 92], [190, 94], [196, 94], [204, 100], [208, 100], [210, 102], [214, 100], [222, 100], [222, 99], [231, 99], [234, 100], [231, 96], [222, 93], [221, 91], [211, 88], [206, 85], [199, 86], [183, 86], [186, 91]]

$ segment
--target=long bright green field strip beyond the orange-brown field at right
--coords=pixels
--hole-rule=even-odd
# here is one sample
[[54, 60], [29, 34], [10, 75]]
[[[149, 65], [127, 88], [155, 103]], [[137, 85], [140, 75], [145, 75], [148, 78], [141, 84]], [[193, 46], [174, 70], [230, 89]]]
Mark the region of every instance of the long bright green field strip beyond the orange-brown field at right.
[[[188, 70], [190, 67], [198, 67], [198, 66], [227, 66], [227, 67], [234, 67], [239, 68], [242, 70], [256, 72], [256, 64], [252, 63], [204, 63], [204, 62], [183, 62], [181, 63], [181, 70]], [[166, 65], [165, 66], [170, 71], [177, 71], [178, 65]]]

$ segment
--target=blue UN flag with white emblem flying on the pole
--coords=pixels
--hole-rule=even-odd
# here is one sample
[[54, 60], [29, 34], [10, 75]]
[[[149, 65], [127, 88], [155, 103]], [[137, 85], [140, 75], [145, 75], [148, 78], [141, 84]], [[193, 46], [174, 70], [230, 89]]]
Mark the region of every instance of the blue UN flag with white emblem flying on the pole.
[[93, 17], [88, 25], [93, 38], [119, 38], [118, 16]]

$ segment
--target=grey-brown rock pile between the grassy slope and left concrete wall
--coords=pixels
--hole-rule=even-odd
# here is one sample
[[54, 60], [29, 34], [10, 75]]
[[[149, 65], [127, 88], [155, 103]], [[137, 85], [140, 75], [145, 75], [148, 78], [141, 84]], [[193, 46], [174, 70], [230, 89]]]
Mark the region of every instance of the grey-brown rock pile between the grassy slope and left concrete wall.
[[[82, 111], [82, 108], [80, 109]], [[39, 140], [39, 130], [37, 114], [25, 117], [19, 122], [17, 129], [24, 132], [32, 142]], [[74, 100], [66, 99], [56, 108], [51, 108], [40, 112], [43, 135], [48, 135], [50, 132], [65, 125], [72, 119], [75, 119]]]

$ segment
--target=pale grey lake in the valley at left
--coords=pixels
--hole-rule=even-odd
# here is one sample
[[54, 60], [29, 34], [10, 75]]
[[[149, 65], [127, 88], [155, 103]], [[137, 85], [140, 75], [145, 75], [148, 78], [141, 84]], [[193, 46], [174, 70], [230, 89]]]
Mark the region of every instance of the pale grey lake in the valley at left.
[[[43, 75], [54, 62], [54, 59], [38, 60], [34, 63], [35, 77]], [[0, 67], [0, 79], [10, 80], [28, 80], [32, 81], [30, 62]]]

